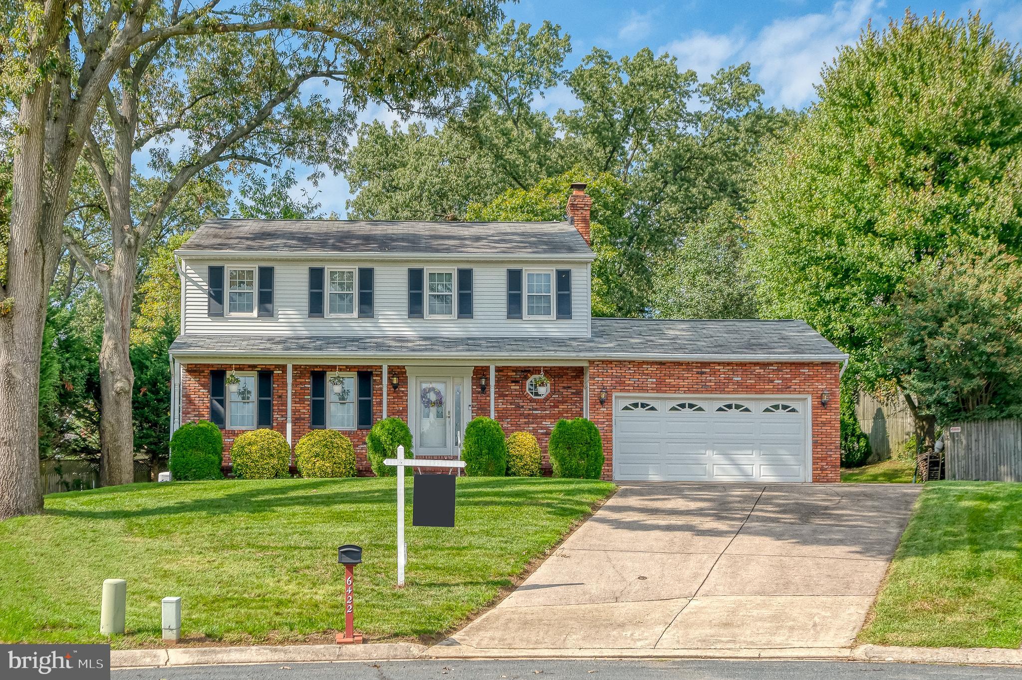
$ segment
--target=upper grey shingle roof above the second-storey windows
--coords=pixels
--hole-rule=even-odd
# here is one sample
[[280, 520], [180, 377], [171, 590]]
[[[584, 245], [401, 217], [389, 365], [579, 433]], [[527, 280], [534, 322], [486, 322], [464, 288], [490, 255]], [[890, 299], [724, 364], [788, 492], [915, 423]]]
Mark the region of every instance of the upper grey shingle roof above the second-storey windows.
[[587, 255], [566, 222], [211, 220], [180, 251]]

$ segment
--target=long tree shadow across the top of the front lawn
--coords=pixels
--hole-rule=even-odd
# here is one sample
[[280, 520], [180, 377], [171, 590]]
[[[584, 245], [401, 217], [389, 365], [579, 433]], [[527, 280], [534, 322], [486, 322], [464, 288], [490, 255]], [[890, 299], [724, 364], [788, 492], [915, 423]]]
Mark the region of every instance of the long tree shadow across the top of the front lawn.
[[[179, 486], [155, 486], [152, 484], [128, 485], [109, 489], [90, 490], [88, 500], [95, 504], [104, 494], [153, 491], [146, 502], [151, 506], [110, 509], [89, 507], [48, 507], [47, 515], [74, 517], [90, 520], [121, 520], [173, 515], [231, 515], [236, 513], [264, 513], [297, 507], [321, 507], [325, 505], [396, 505], [396, 488], [367, 488], [361, 480], [259, 480], [258, 486], [249, 486], [245, 481], [218, 481], [184, 483]], [[216, 487], [238, 485], [236, 490], [227, 492]], [[247, 487], [247, 488], [244, 488]], [[211, 489], [206, 495], [197, 495], [187, 500], [179, 500], [168, 492], [181, 491], [200, 494], [204, 488]], [[409, 509], [414, 498], [414, 485], [409, 484]], [[574, 517], [590, 505], [593, 488], [574, 481], [560, 480], [517, 480], [507, 478], [466, 479], [461, 478], [457, 487], [458, 505], [464, 508], [507, 511], [514, 506], [542, 506], [556, 516]], [[66, 498], [66, 496], [64, 497]], [[121, 499], [121, 498], [119, 498]], [[60, 500], [60, 498], [54, 498]], [[375, 514], [375, 512], [374, 512]]]

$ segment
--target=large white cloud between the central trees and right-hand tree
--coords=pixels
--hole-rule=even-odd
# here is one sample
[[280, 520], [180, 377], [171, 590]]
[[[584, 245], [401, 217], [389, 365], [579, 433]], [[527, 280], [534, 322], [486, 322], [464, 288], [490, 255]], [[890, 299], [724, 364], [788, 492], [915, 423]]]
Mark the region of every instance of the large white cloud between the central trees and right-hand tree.
[[663, 49], [700, 79], [722, 66], [750, 61], [766, 103], [798, 108], [812, 100], [820, 70], [840, 45], [853, 43], [871, 16], [875, 23], [887, 22], [887, 15], [879, 13], [882, 7], [882, 0], [841, 0], [826, 12], [776, 19], [754, 36], [696, 32]]

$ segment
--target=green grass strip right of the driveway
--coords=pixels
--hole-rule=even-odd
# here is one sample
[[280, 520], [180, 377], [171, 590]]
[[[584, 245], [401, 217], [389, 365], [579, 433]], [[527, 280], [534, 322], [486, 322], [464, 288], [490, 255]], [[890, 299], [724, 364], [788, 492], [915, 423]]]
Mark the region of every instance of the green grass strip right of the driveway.
[[1022, 643], [1022, 484], [930, 482], [858, 640]]

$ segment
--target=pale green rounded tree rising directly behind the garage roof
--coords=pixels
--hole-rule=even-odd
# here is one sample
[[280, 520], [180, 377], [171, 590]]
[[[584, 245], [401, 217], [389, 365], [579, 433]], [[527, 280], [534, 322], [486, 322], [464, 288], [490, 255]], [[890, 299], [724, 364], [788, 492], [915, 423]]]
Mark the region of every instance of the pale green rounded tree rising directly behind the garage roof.
[[755, 319], [756, 284], [745, 263], [748, 229], [724, 201], [692, 225], [657, 268], [652, 305], [661, 319]]

